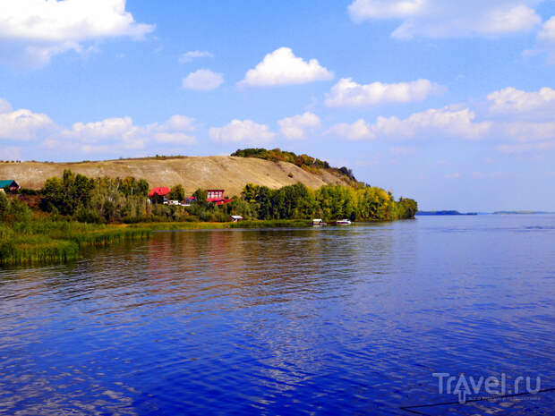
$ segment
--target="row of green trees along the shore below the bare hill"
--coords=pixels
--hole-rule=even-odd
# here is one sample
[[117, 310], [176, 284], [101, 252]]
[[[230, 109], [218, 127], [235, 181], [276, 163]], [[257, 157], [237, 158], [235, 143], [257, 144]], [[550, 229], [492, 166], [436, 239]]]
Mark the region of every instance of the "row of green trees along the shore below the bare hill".
[[[240, 196], [225, 205], [207, 200], [207, 191], [193, 192], [190, 207], [161, 203], [149, 199], [149, 183], [144, 179], [89, 178], [65, 170], [62, 177], [47, 179], [37, 195], [21, 192], [21, 197], [35, 199], [36, 207], [55, 219], [71, 219], [82, 223], [140, 223], [166, 221], [225, 222], [230, 215], [244, 219], [281, 220], [347, 218], [354, 221], [390, 221], [414, 217], [416, 201], [401, 198], [378, 187], [325, 185], [311, 190], [302, 183], [273, 190], [248, 183]], [[184, 200], [182, 185], [175, 185], [169, 200]], [[29, 204], [32, 205], [32, 204]], [[44, 214], [43, 214], [44, 215]], [[4, 221], [30, 219], [28, 204], [0, 193], [0, 216]]]

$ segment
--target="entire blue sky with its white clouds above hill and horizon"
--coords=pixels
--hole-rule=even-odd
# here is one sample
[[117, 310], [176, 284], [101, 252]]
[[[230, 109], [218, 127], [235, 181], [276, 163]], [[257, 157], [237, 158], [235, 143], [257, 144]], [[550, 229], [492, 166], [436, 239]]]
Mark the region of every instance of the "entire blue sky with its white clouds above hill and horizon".
[[555, 210], [551, 0], [4, 0], [0, 159], [288, 149], [423, 209]]

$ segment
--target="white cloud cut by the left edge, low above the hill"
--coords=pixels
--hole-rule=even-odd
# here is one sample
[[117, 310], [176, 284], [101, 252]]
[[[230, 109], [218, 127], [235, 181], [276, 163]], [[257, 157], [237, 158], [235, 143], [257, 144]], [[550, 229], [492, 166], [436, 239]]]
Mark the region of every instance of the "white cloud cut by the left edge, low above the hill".
[[13, 111], [5, 99], [0, 98], [0, 139], [35, 140], [55, 129], [47, 115], [21, 108]]

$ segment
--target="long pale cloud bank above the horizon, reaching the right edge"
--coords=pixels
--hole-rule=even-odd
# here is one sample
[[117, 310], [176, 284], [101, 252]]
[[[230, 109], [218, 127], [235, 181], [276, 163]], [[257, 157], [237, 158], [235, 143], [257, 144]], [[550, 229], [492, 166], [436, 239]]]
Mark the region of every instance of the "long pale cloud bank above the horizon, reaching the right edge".
[[337, 123], [325, 134], [347, 140], [488, 140], [505, 153], [555, 149], [555, 90], [509, 87], [491, 92], [487, 102], [488, 107], [478, 106], [478, 115], [464, 105], [445, 106], [406, 118], [379, 116], [373, 123], [363, 119]]

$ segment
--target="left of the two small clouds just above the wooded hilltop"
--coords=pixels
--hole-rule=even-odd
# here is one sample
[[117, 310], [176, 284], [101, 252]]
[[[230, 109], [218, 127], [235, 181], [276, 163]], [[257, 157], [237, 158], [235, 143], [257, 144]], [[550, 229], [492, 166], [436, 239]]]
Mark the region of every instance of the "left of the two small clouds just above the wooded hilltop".
[[266, 143], [276, 133], [270, 132], [266, 124], [254, 123], [252, 120], [232, 120], [223, 127], [211, 127], [209, 137], [220, 142]]

